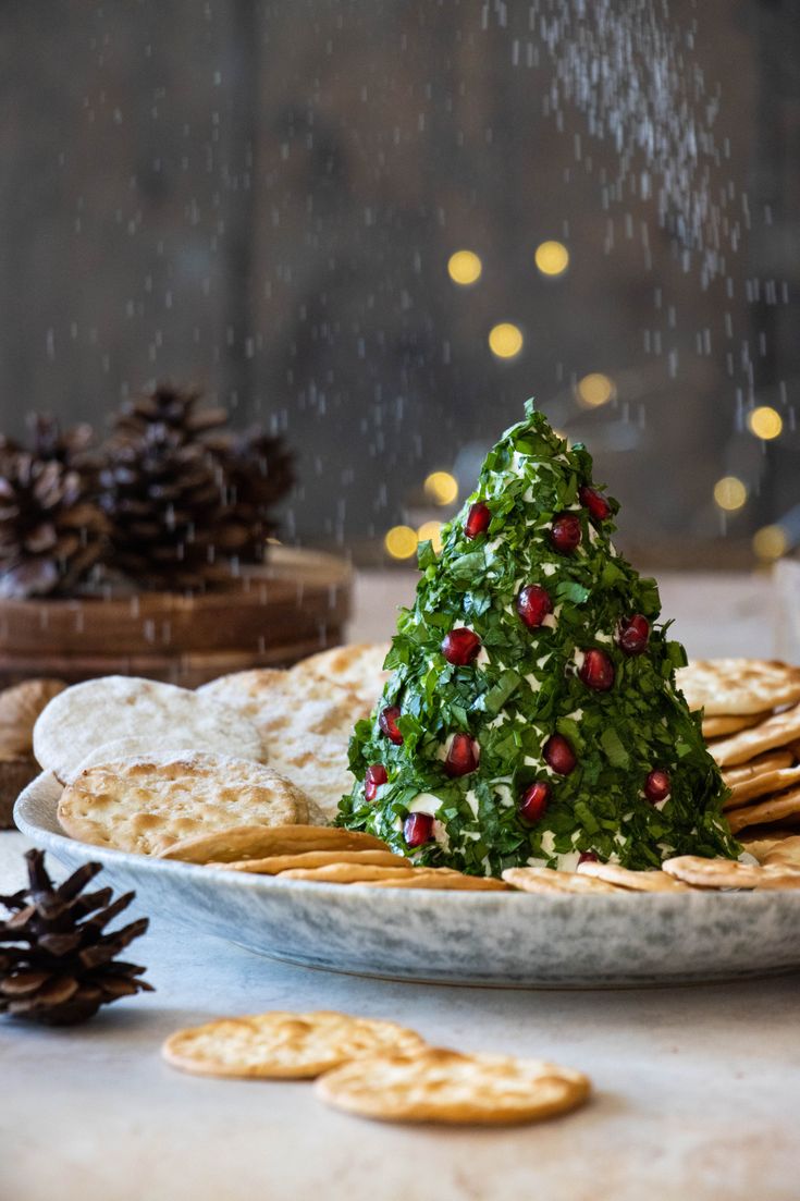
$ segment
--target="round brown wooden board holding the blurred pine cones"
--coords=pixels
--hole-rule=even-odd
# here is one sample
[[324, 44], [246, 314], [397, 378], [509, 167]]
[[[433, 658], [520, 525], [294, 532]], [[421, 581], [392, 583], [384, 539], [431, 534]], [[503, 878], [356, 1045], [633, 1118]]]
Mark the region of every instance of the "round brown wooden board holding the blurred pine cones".
[[283, 667], [344, 641], [352, 572], [333, 555], [273, 548], [229, 588], [0, 602], [0, 687], [121, 673], [196, 687], [226, 671]]

